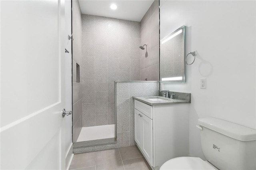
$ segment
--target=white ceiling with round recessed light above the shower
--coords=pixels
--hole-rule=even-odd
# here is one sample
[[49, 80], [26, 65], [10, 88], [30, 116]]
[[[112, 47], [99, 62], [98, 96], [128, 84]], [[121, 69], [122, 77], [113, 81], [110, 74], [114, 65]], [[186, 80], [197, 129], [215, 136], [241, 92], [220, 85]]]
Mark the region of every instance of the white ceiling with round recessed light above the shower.
[[[82, 14], [140, 22], [154, 0], [78, 0]], [[117, 9], [112, 10], [111, 4]]]

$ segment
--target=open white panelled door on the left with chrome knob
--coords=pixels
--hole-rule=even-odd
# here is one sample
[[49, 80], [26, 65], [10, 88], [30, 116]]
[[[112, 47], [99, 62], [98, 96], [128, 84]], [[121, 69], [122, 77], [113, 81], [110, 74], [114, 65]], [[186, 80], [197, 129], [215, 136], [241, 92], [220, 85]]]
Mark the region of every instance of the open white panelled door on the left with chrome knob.
[[2, 0], [0, 11], [0, 169], [64, 169], [64, 0]]

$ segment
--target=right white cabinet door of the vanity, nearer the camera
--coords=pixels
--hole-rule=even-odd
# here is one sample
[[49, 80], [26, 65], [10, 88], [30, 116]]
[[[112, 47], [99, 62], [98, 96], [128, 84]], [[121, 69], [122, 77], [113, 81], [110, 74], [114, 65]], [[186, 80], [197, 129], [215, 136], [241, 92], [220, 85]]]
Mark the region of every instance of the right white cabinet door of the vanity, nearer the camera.
[[153, 166], [153, 121], [142, 114], [142, 152], [151, 166]]

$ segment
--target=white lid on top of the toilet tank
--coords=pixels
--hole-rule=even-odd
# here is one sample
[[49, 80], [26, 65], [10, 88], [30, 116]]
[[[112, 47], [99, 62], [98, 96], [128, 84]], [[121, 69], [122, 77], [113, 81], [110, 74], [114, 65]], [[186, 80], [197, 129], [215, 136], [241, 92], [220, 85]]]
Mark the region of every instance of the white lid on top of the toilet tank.
[[256, 130], [221, 119], [208, 117], [198, 119], [198, 124], [240, 141], [256, 140]]

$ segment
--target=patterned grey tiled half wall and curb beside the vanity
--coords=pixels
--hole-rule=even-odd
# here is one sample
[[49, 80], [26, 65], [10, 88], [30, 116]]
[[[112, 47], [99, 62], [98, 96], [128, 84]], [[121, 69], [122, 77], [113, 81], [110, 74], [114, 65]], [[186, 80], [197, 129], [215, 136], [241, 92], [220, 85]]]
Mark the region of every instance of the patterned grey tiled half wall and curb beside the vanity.
[[[134, 145], [134, 99], [132, 96], [155, 96], [158, 95], [158, 82], [117, 82], [116, 91], [116, 119], [117, 119], [117, 142], [102, 146], [76, 148], [74, 153], [106, 150], [123, 146]], [[115, 111], [115, 108], [113, 108]]]

